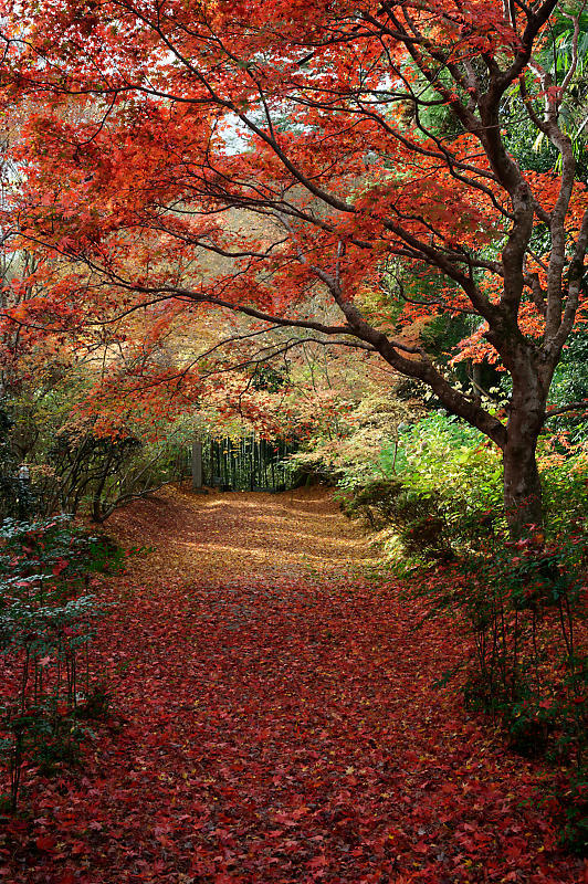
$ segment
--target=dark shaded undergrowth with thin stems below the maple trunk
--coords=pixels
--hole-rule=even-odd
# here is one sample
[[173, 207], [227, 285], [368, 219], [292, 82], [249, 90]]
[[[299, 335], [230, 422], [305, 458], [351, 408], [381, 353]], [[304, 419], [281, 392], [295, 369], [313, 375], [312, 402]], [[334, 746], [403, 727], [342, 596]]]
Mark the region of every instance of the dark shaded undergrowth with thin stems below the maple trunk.
[[431, 617], [454, 618], [464, 635], [462, 660], [437, 686], [453, 683], [512, 751], [546, 766], [550, 786], [540, 800], [561, 846], [580, 856], [588, 848], [587, 565], [584, 533], [504, 541], [413, 568], [409, 590], [427, 597]]

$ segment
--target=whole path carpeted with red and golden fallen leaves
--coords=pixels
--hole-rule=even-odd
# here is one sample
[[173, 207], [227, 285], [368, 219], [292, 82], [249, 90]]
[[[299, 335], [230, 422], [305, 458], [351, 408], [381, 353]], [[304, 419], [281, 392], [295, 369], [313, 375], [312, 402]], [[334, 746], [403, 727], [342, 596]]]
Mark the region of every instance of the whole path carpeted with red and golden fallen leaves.
[[155, 547], [99, 590], [114, 713], [29, 792], [0, 881], [582, 880], [538, 769], [433, 687], [455, 627], [360, 576], [324, 492], [167, 491], [108, 529]]

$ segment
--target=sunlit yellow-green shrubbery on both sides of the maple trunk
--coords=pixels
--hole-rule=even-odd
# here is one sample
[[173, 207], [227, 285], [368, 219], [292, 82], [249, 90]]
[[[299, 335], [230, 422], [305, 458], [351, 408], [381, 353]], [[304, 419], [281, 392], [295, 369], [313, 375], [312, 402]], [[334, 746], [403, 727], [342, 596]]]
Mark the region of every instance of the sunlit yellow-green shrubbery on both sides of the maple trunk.
[[[565, 448], [545, 439], [538, 451], [546, 533], [581, 533], [588, 516], [588, 449]], [[426, 549], [468, 555], [492, 550], [507, 536], [503, 506], [502, 456], [482, 433], [434, 412], [403, 427], [384, 449], [381, 478], [347, 483], [346, 512], [364, 515], [376, 529], [389, 526], [405, 556]]]

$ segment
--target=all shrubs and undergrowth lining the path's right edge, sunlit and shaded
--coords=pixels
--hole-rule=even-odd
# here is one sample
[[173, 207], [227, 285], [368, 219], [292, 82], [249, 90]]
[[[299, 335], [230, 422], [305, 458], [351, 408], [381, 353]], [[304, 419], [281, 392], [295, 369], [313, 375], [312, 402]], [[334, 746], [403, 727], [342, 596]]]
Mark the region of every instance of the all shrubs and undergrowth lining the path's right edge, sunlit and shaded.
[[[508, 540], [498, 452], [440, 414], [382, 453], [385, 475], [339, 492], [377, 532], [382, 562], [429, 597], [431, 615], [465, 624], [466, 708], [500, 725], [508, 747], [548, 766], [561, 843], [586, 854], [588, 452], [561, 438], [539, 453], [545, 533]], [[459, 677], [458, 677], [459, 676]]]

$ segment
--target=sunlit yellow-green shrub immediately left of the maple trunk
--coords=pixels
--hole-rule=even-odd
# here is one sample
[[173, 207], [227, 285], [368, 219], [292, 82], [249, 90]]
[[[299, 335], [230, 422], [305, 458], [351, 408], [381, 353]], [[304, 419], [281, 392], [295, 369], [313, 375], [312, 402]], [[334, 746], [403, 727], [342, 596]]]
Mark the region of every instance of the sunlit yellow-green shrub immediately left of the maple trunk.
[[448, 561], [504, 530], [500, 455], [476, 431], [434, 413], [405, 427], [380, 465], [385, 477], [348, 487], [344, 509], [389, 527], [405, 557]]

